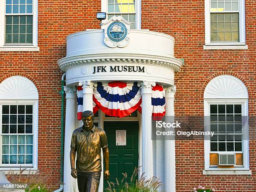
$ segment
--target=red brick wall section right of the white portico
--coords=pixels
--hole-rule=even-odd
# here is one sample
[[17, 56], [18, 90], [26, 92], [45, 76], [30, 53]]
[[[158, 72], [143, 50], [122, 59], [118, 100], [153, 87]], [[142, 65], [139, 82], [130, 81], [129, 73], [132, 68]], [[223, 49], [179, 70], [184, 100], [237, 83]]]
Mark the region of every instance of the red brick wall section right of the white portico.
[[[186, 74], [176, 82], [175, 115], [203, 115], [203, 92], [207, 82], [220, 74], [241, 79], [249, 92], [249, 114], [256, 114], [254, 65], [255, 1], [246, 0], [246, 44], [248, 50], [203, 50], [205, 43], [204, 0], [142, 0], [142, 28], [175, 38], [174, 54], [185, 61]], [[181, 77], [181, 72], [176, 78]], [[255, 125], [250, 125], [250, 169], [252, 175], [202, 175], [203, 141], [176, 141], [176, 189], [191, 191], [200, 184], [218, 191], [255, 191]]]

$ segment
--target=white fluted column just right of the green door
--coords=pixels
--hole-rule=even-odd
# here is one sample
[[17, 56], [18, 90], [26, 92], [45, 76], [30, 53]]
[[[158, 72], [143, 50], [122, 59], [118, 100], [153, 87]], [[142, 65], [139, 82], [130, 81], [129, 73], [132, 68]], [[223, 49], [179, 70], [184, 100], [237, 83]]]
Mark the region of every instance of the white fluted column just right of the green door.
[[154, 82], [142, 82], [141, 96], [142, 96], [142, 174], [149, 179], [154, 176], [153, 164], [153, 141], [151, 139], [152, 131], [152, 87], [155, 86]]

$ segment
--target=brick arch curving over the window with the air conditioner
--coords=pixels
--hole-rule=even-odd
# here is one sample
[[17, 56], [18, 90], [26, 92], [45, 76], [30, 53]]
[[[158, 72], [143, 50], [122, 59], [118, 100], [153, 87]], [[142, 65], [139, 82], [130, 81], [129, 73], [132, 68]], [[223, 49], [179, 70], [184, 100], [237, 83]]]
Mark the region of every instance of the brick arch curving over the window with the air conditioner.
[[243, 84], [245, 85], [245, 87], [246, 87], [246, 89], [247, 89], [247, 92], [248, 92], [248, 96], [250, 97], [250, 95], [251, 95], [251, 88], [250, 88], [248, 82], [247, 82], [241, 75], [236, 74], [236, 73], [234, 73], [234, 72], [218, 72], [218, 73], [213, 74], [211, 77], [209, 77], [209, 78], [205, 81], [205, 83], [203, 84], [202, 90], [201, 90], [201, 96], [202, 96], [202, 98], [204, 98], [205, 88], [206, 88], [207, 84], [209, 84], [209, 82], [210, 82], [213, 78], [218, 77], [218, 76], [220, 76], [220, 75], [231, 75], [231, 76], [234, 76], [234, 77], [237, 77], [238, 79], [240, 79], [241, 82], [243, 82]]

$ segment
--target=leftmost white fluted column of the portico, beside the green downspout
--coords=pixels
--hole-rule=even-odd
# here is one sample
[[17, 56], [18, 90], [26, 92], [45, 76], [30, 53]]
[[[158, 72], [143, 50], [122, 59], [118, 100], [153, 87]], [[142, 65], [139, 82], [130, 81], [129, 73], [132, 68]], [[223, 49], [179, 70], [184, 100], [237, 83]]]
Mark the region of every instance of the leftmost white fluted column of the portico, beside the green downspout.
[[70, 144], [73, 131], [76, 129], [76, 90], [64, 87], [66, 92], [65, 146], [64, 146], [64, 192], [74, 191], [77, 180], [71, 176]]

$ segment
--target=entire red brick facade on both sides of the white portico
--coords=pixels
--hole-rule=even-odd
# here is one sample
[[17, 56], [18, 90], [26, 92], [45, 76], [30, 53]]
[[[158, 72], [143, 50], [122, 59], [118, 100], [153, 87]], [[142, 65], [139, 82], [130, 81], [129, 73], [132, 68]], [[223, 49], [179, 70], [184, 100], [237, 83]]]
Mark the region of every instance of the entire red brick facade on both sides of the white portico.
[[[31, 79], [39, 91], [38, 168], [50, 173], [49, 182], [60, 179], [61, 75], [56, 64], [66, 55], [65, 38], [88, 28], [100, 28], [95, 19], [100, 0], [38, 0], [39, 52], [0, 52], [0, 82], [19, 74]], [[246, 0], [246, 44], [248, 50], [203, 50], [205, 42], [204, 1], [142, 0], [142, 28], [167, 33], [175, 38], [175, 57], [185, 60], [186, 74], [175, 95], [176, 115], [203, 115], [203, 90], [216, 74], [241, 77], [249, 90], [249, 114], [255, 102], [255, 1]], [[183, 70], [182, 70], [183, 71]], [[182, 76], [182, 71], [176, 77]], [[255, 135], [255, 132], [254, 132]], [[202, 175], [203, 141], [176, 142], [177, 192], [200, 184], [218, 191], [254, 191], [256, 142], [250, 141], [253, 175]], [[58, 186], [56, 186], [58, 187]]]

